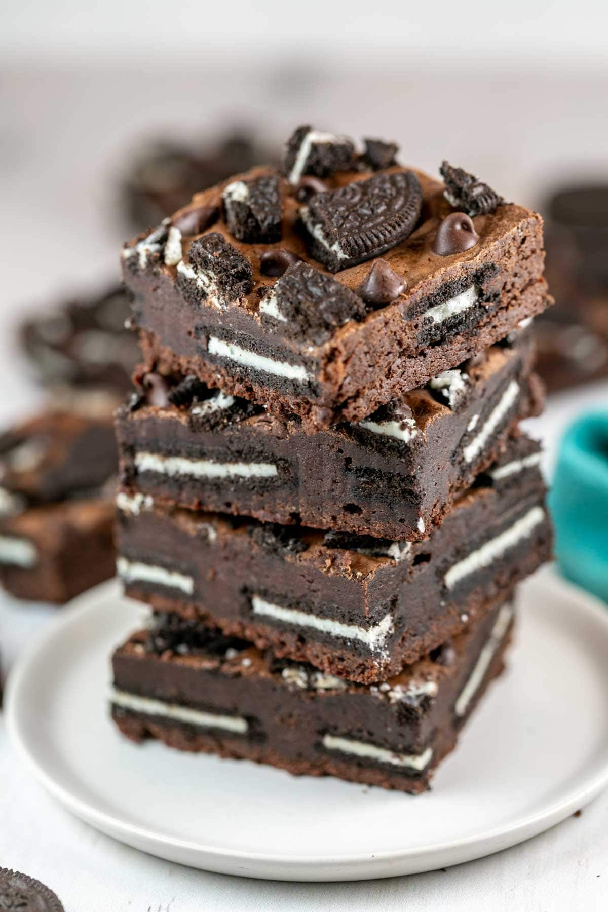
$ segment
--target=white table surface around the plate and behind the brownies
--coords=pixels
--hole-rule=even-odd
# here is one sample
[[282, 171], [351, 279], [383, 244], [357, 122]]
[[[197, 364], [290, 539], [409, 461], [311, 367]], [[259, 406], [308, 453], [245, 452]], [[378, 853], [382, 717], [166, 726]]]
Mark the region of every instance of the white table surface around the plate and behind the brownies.
[[[267, 129], [283, 135], [311, 112], [320, 126], [358, 134], [386, 133], [407, 139], [407, 125], [395, 122], [395, 93], [407, 109], [407, 122], [424, 122], [413, 139], [411, 161], [430, 167], [444, 155], [471, 168], [500, 177], [506, 195], [534, 202], [550, 177], [576, 166], [579, 140], [575, 125], [586, 129], [589, 169], [605, 161], [605, 122], [593, 118], [602, 99], [600, 80], [572, 74], [532, 79], [528, 104], [521, 106], [518, 81], [508, 74], [493, 83], [454, 74], [455, 93], [474, 91], [480, 104], [500, 97], [500, 117], [492, 130], [471, 145], [460, 122], [458, 106], [448, 119], [424, 120], [427, 105], [438, 102], [444, 83], [429, 75], [426, 95], [414, 90], [411, 74], [401, 66], [392, 92], [386, 80], [360, 83], [375, 93], [374, 105], [353, 109], [356, 78], [335, 79], [327, 91], [320, 76], [307, 81], [299, 72], [283, 74], [279, 83], [264, 76], [248, 81], [249, 111], [261, 113]], [[181, 91], [184, 75], [153, 73], [0, 72], [0, 233], [3, 251], [3, 302], [0, 307], [0, 420], [5, 424], [36, 407], [40, 393], [26, 380], [13, 337], [15, 321], [26, 309], [47, 304], [63, 291], [105, 285], [115, 274], [116, 251], [129, 234], [113, 209], [111, 179], [119, 153], [142, 130], [165, 123], [185, 134], [201, 132], [205, 118], [238, 115], [242, 79], [227, 76], [222, 93], [206, 109], [192, 114], [196, 98]], [[129, 85], [129, 91], [126, 86]], [[323, 91], [321, 88], [323, 87]], [[371, 100], [371, 94], [370, 94]], [[560, 119], [551, 110], [560, 107]], [[444, 106], [445, 107], [445, 106]], [[538, 117], [543, 109], [544, 117]], [[370, 120], [366, 120], [371, 111]], [[513, 161], [505, 140], [513, 117], [525, 138], [525, 157]], [[450, 120], [451, 119], [451, 120]], [[492, 119], [491, 109], [489, 119]], [[569, 127], [572, 128], [568, 129]], [[510, 140], [512, 148], [512, 140]], [[494, 150], [500, 152], [495, 154]], [[549, 151], [551, 150], [551, 151]], [[467, 154], [464, 154], [464, 153]], [[484, 171], [485, 173], [485, 171]], [[108, 184], [109, 181], [109, 184]], [[499, 182], [499, 181], [496, 181]], [[109, 192], [108, 192], [109, 185]], [[608, 385], [579, 390], [553, 399], [532, 426], [547, 444], [547, 465], [554, 457], [563, 427], [582, 409], [606, 405]], [[16, 603], [0, 596], [0, 648], [3, 671], [15, 661], [30, 637], [53, 622], [56, 609]], [[567, 722], [567, 720], [564, 720]], [[564, 737], [567, 727], [564, 725]], [[407, 801], [396, 796], [396, 813], [407, 826]], [[415, 799], [414, 799], [415, 800]], [[398, 805], [398, 806], [397, 806]], [[336, 840], [340, 834], [336, 832]], [[356, 884], [284, 884], [207, 874], [142, 855], [98, 834], [69, 816], [17, 762], [0, 715], [0, 867], [14, 867], [56, 890], [67, 912], [220, 912], [248, 909], [274, 912], [310, 909], [331, 912], [389, 912], [438, 908], [466, 912], [571, 912], [608, 907], [608, 793], [571, 818], [523, 845], [499, 855], [446, 871]]]

